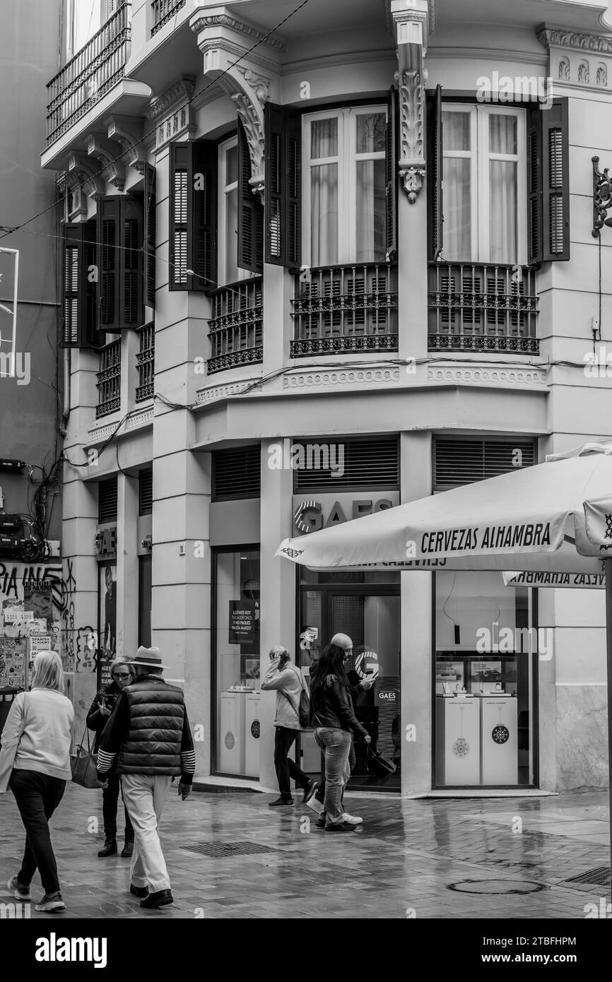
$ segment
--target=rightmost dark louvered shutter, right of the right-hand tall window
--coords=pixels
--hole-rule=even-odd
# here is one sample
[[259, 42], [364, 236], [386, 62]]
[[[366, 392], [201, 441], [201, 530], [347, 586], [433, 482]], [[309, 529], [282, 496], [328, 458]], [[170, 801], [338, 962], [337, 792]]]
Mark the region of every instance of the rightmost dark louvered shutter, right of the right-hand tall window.
[[568, 100], [540, 107], [542, 146], [542, 258], [570, 258]]

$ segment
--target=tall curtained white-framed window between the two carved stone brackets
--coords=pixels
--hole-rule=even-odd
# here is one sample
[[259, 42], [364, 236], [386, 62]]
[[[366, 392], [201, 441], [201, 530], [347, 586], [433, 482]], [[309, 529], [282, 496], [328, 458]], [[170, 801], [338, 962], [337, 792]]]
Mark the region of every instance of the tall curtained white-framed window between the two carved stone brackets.
[[384, 106], [304, 120], [304, 251], [311, 266], [385, 258]]

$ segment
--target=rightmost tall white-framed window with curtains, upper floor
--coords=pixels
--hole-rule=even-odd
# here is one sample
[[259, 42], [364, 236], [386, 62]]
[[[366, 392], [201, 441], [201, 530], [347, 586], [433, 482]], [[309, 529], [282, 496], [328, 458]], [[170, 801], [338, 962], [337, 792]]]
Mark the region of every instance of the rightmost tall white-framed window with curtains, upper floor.
[[444, 258], [527, 261], [525, 112], [445, 104]]

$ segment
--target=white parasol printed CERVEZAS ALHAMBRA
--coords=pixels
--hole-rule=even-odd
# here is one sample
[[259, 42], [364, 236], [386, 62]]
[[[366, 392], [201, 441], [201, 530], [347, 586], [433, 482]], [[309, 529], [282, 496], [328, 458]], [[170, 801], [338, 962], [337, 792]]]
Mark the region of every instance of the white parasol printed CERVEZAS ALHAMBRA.
[[612, 442], [285, 539], [276, 555], [313, 570], [605, 573], [612, 803]]

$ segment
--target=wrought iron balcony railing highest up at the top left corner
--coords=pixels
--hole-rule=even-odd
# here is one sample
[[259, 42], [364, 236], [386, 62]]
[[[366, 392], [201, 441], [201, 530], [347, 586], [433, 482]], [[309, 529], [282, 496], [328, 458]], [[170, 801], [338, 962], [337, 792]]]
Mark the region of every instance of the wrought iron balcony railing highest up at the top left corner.
[[125, 73], [132, 4], [124, 3], [47, 84], [47, 146], [63, 136]]

